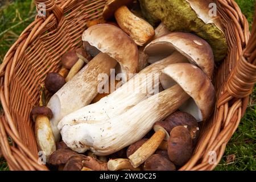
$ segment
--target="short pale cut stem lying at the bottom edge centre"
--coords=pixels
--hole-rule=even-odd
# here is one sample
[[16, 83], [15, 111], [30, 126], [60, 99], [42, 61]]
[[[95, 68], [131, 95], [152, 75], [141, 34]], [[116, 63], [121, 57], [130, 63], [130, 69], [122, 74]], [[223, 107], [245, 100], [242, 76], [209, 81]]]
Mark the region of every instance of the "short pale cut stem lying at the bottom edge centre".
[[110, 159], [108, 162], [109, 171], [119, 171], [123, 169], [130, 169], [131, 171], [141, 171], [139, 168], [131, 166], [129, 159]]

